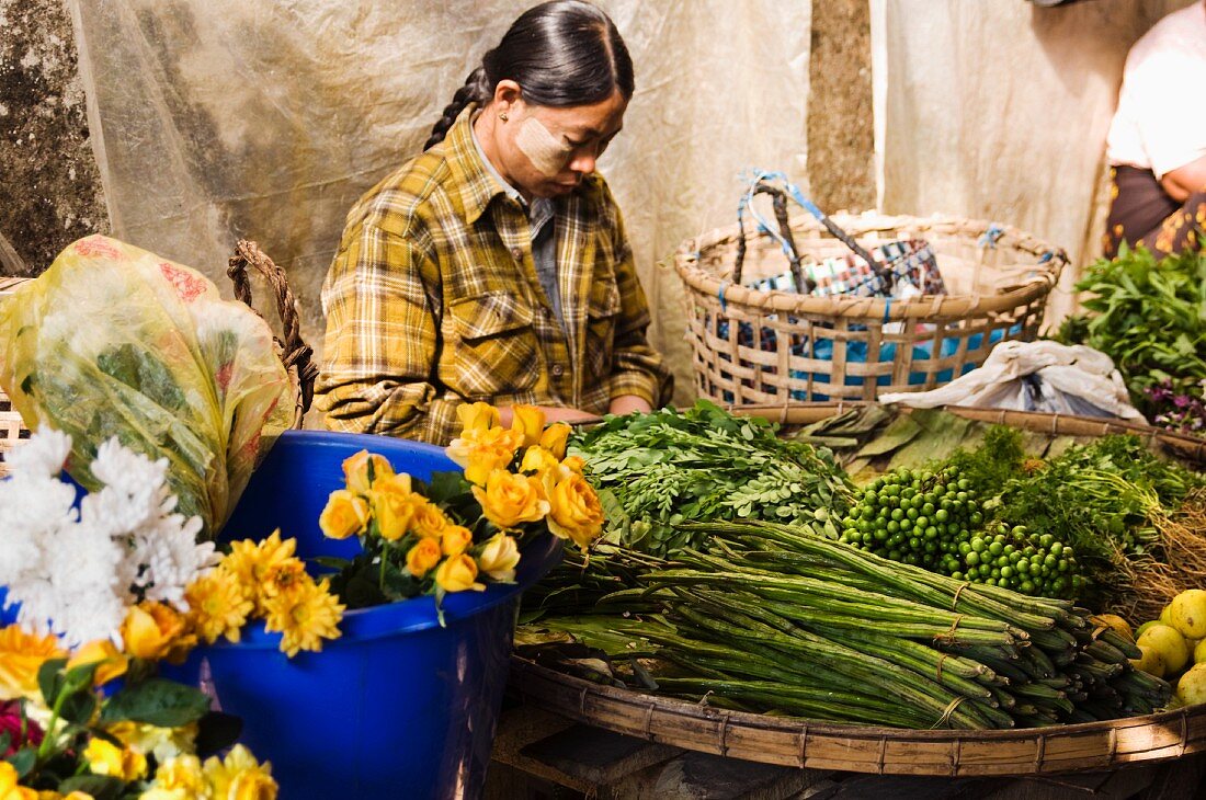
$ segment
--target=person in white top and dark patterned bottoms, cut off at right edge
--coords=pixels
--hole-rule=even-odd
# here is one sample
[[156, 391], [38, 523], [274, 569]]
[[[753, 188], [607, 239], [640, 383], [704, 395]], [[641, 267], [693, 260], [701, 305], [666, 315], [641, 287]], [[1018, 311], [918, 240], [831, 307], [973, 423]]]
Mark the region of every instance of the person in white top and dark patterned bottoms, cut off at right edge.
[[1110, 127], [1106, 255], [1122, 242], [1157, 255], [1200, 246], [1206, 228], [1206, 2], [1176, 11], [1126, 57]]

